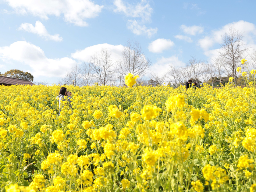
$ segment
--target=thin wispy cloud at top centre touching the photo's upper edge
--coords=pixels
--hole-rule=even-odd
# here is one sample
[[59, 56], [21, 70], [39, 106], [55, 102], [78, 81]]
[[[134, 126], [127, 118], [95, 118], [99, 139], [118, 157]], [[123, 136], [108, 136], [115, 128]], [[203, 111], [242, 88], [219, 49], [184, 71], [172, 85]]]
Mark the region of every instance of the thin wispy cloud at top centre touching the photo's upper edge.
[[115, 0], [114, 5], [116, 6], [114, 12], [123, 12], [128, 17], [140, 17], [143, 21], [150, 21], [151, 13], [153, 12], [147, 0], [141, 0], [137, 5], [124, 3], [122, 0]]

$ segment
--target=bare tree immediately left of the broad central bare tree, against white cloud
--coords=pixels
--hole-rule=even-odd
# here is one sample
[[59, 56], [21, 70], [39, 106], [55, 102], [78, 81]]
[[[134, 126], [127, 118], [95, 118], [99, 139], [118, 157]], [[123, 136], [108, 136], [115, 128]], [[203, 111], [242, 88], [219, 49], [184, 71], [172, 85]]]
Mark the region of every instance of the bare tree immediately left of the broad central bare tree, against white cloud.
[[111, 60], [111, 52], [108, 49], [101, 49], [100, 53], [94, 53], [91, 56], [90, 63], [92, 70], [96, 74], [96, 80], [102, 85], [107, 85], [112, 81], [115, 70]]

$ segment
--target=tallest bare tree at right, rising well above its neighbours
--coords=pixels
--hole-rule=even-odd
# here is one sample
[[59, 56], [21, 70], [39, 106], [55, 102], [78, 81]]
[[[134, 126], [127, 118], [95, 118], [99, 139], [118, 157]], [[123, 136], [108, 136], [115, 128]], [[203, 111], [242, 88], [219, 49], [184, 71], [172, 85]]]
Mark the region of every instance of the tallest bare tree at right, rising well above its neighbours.
[[223, 61], [223, 67], [228, 76], [234, 77], [236, 84], [237, 72], [236, 68], [241, 66], [241, 59], [248, 48], [244, 48], [243, 34], [239, 33], [234, 27], [229, 27], [229, 31], [222, 37], [222, 49], [219, 51]]

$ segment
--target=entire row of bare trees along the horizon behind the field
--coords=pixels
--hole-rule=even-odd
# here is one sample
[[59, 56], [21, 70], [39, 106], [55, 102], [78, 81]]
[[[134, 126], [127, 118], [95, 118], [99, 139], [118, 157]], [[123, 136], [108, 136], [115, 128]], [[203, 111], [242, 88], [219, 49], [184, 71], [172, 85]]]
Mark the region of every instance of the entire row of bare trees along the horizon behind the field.
[[[211, 84], [212, 87], [219, 86], [228, 82], [229, 77], [234, 77], [234, 84], [246, 85], [244, 79], [236, 71], [241, 67], [242, 72], [256, 68], [256, 50], [248, 52], [243, 42], [243, 33], [230, 27], [229, 31], [222, 37], [222, 44], [218, 55], [211, 58], [210, 62], [191, 56], [191, 59], [184, 67], [175, 67], [169, 64], [165, 69], [166, 73], [161, 76], [151, 72], [149, 79], [145, 80], [145, 73], [150, 67], [150, 59], [144, 55], [140, 44], [137, 41], [127, 41], [123, 50], [123, 58], [115, 63], [111, 59], [111, 52], [108, 49], [102, 49], [99, 53], [94, 53], [88, 62], [81, 67], [75, 65], [65, 76], [59, 80], [59, 84], [92, 85], [95, 82], [98, 85], [125, 85], [124, 76], [127, 73], [139, 75], [137, 80], [141, 85], [163, 85], [165, 82], [172, 87], [184, 85], [187, 80], [192, 80], [198, 85], [202, 83]], [[241, 59], [248, 58], [247, 69], [241, 64]]]

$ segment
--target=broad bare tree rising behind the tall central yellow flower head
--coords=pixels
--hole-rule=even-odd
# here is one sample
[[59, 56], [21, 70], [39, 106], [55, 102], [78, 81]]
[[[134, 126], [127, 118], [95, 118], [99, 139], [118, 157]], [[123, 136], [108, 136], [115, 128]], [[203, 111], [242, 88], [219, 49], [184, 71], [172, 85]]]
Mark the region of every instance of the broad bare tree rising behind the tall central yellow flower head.
[[139, 42], [128, 40], [123, 49], [123, 59], [118, 64], [118, 71], [123, 79], [127, 73], [142, 75], [150, 65], [151, 62], [145, 57]]

